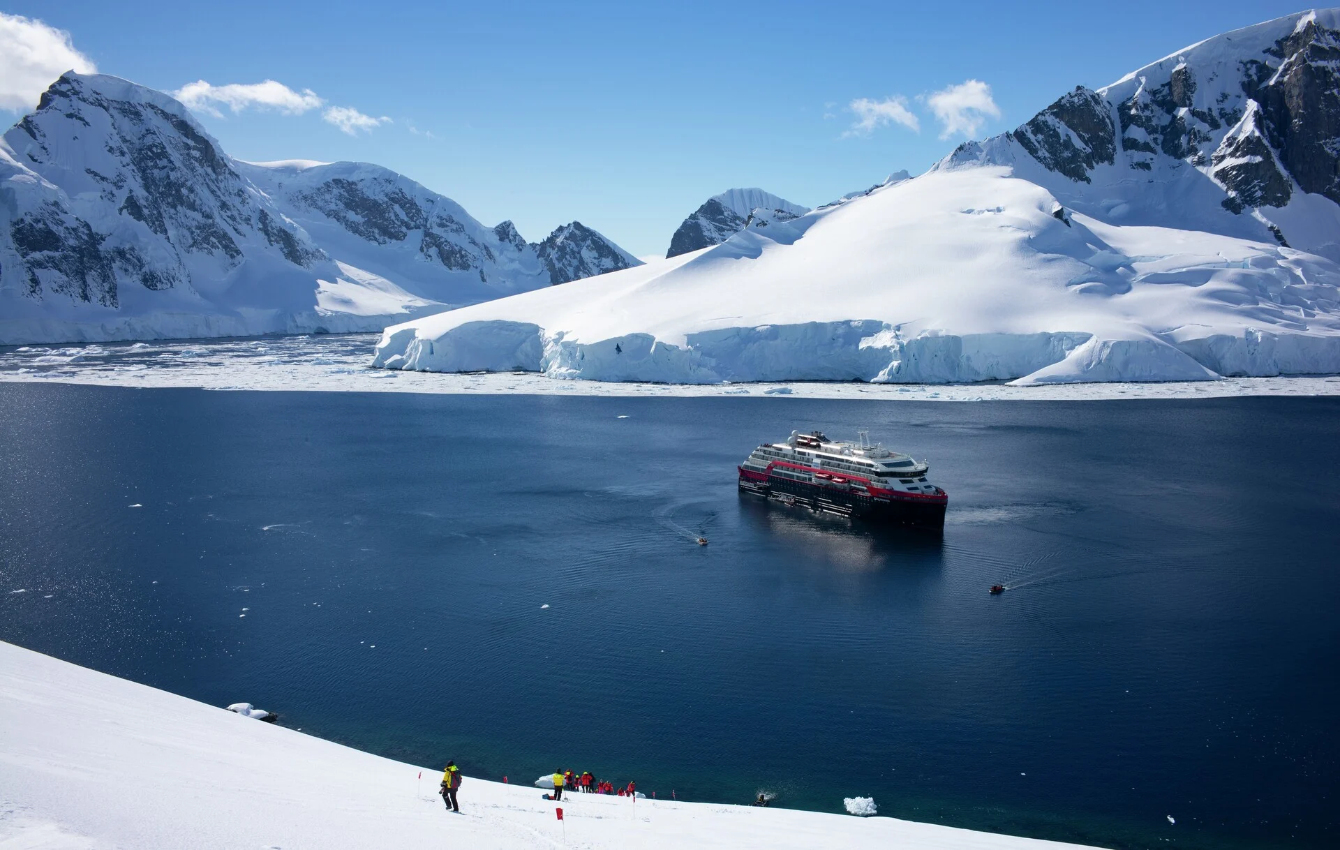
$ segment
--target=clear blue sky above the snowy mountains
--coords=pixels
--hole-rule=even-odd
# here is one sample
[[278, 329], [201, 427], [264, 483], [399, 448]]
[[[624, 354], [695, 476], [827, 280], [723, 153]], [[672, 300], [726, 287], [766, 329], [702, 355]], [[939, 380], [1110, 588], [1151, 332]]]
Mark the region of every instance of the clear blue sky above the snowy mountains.
[[[532, 241], [578, 219], [636, 255], [663, 253], [724, 189], [815, 206], [921, 172], [1076, 84], [1294, 11], [1270, 0], [0, 0], [0, 12], [67, 31], [103, 74], [165, 91], [276, 80], [312, 93], [287, 113], [205, 101], [217, 114], [197, 117], [234, 157], [378, 162], [485, 224], [512, 219]], [[859, 126], [852, 103], [874, 126]], [[342, 131], [323, 119], [331, 107], [389, 121]]]

